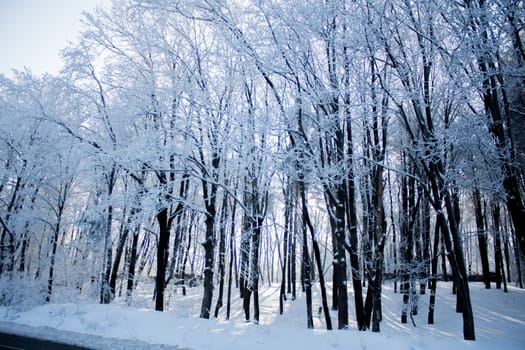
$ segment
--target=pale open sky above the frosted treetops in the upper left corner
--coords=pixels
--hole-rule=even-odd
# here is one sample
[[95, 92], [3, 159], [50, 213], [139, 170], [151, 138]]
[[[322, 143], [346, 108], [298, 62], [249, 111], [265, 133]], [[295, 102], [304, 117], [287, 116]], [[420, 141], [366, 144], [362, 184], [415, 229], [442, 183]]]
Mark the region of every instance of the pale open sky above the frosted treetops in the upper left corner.
[[102, 1], [0, 0], [0, 73], [12, 76], [12, 69], [24, 67], [58, 73], [60, 50], [76, 40], [82, 11]]

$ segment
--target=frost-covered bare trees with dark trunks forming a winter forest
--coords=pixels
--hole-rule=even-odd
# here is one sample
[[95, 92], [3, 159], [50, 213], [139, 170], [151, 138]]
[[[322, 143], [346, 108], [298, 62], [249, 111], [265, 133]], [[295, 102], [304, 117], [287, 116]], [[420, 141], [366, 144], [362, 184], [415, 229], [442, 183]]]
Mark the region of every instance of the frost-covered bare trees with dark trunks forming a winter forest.
[[201, 318], [257, 324], [276, 285], [305, 328], [380, 332], [384, 285], [432, 324], [451, 281], [475, 340], [469, 281], [525, 275], [524, 6], [85, 13], [59, 74], [0, 75], [0, 304], [197, 291]]

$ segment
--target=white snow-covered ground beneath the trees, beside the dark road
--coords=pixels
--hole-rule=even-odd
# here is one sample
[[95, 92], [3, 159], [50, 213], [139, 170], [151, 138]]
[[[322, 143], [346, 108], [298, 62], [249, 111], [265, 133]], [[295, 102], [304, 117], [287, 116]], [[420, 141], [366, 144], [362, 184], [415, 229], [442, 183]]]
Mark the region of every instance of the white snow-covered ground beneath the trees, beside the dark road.
[[[476, 323], [475, 342], [463, 340], [462, 319], [456, 314], [455, 296], [449, 283], [439, 283], [435, 324], [426, 324], [429, 295], [421, 296], [419, 314], [411, 323], [401, 324], [401, 295], [390, 284], [383, 292], [381, 333], [350, 330], [326, 331], [324, 321], [315, 317], [315, 330], [306, 329], [302, 296], [287, 301], [284, 315], [278, 314], [278, 286], [260, 292], [260, 324], [245, 323], [240, 301], [234, 299], [232, 317], [225, 320], [225, 307], [218, 319], [198, 318], [200, 288], [187, 296], [171, 294], [169, 311], [151, 310], [150, 299], [136, 297], [132, 306], [116, 301], [111, 305], [94, 303], [48, 304], [30, 309], [0, 308], [0, 331], [87, 346], [95, 349], [522, 349], [525, 344], [525, 290], [509, 287], [485, 290], [471, 284]], [[352, 302], [350, 296], [349, 301]], [[314, 310], [320, 305], [314, 294]], [[353, 304], [350, 304], [353, 315]], [[337, 315], [332, 315], [337, 325]]]

